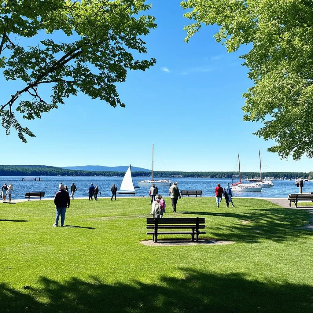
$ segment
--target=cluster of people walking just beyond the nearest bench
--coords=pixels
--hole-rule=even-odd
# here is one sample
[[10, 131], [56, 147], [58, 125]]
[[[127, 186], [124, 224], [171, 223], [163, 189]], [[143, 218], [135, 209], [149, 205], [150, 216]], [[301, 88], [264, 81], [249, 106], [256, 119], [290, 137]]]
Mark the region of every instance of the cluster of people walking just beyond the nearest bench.
[[[169, 195], [171, 196], [173, 212], [176, 212], [178, 198], [181, 199], [180, 192], [177, 187], [177, 182], [174, 182], [173, 185], [170, 187]], [[162, 195], [158, 195], [158, 188], [155, 185], [151, 186], [149, 191], [149, 197], [151, 197], [150, 204], [152, 204], [151, 214], [154, 217], [162, 218], [163, 213], [165, 213], [165, 201]]]

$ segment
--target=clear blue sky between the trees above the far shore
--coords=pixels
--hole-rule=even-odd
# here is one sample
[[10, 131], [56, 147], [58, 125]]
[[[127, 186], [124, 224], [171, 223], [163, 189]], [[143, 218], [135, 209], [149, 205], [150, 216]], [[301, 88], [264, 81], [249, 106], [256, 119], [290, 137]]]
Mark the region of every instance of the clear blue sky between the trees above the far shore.
[[[188, 20], [180, 1], [150, 2], [157, 28], [144, 38], [147, 54], [141, 57], [157, 63], [146, 72], [129, 72], [118, 85], [126, 108], [79, 94], [42, 119], [19, 119], [36, 137], [24, 144], [15, 131], [6, 136], [1, 130], [0, 163], [151, 168], [154, 143], [156, 170], [233, 171], [240, 153], [242, 171], [258, 171], [259, 149], [263, 171], [312, 170], [306, 157], [293, 162], [267, 152], [273, 142], [252, 135], [261, 124], [242, 121], [242, 93], [252, 81], [238, 56], [249, 47], [228, 54], [213, 38], [217, 27], [203, 27], [186, 44]], [[18, 86], [1, 79], [7, 102]], [[43, 94], [47, 99], [51, 92]]]

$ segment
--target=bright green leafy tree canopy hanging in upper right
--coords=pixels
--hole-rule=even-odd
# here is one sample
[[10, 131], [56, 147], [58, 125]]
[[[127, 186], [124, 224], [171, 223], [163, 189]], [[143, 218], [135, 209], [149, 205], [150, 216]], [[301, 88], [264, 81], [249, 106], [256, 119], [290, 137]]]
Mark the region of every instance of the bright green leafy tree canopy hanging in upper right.
[[260, 121], [255, 135], [276, 144], [280, 157], [313, 157], [313, 2], [309, 0], [186, 0], [187, 42], [203, 24], [217, 24], [228, 52], [252, 44], [241, 56], [254, 86], [244, 121]]

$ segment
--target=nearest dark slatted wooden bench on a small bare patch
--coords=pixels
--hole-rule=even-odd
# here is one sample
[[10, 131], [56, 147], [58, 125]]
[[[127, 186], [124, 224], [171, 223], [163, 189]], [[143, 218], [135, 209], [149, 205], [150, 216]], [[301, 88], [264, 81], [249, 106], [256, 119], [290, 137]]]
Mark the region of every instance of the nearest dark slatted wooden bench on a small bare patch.
[[[152, 235], [152, 241], [157, 242], [158, 235], [191, 235], [192, 242], [198, 242], [199, 234], [205, 234], [204, 231], [199, 229], [205, 228], [204, 218], [147, 218], [147, 229], [153, 231], [147, 231], [147, 235]], [[159, 231], [159, 229], [191, 229], [190, 231]], [[155, 239], [155, 240], [154, 240]]]

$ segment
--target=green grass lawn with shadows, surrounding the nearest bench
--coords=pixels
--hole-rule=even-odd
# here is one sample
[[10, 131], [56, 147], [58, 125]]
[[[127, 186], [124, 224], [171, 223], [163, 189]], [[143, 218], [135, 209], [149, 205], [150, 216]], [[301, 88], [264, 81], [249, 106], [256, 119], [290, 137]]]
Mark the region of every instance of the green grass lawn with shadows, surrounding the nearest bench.
[[74, 200], [65, 225], [79, 227], [64, 228], [52, 227], [53, 201], [1, 203], [0, 312], [313, 311], [310, 213], [259, 199], [183, 198], [178, 213], [166, 203], [164, 217], [204, 217], [200, 238], [234, 243], [141, 244], [148, 198]]

